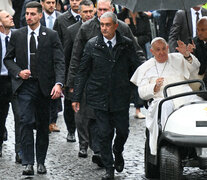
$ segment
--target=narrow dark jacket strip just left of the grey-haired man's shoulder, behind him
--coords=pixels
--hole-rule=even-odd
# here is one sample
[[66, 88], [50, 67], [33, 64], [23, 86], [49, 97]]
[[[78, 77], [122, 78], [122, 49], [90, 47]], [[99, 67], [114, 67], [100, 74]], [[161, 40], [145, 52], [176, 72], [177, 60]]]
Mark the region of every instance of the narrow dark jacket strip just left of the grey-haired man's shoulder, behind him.
[[75, 41], [76, 34], [79, 30], [79, 28], [82, 25], [82, 21], [79, 21], [66, 29], [65, 33], [65, 45], [64, 45], [64, 54], [65, 54], [65, 66], [66, 66], [66, 72], [65, 75], [67, 76], [68, 74], [68, 68], [70, 64], [70, 59], [72, 55], [72, 50], [73, 50], [73, 43]]

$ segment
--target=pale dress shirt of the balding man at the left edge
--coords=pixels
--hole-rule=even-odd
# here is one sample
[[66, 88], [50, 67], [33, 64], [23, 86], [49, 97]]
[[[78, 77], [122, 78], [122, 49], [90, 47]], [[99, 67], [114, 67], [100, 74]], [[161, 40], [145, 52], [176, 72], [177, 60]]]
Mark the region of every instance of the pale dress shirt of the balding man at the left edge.
[[5, 42], [6, 36], [9, 36], [9, 39], [8, 40], [10, 40], [11, 31], [9, 32], [8, 35], [3, 34], [3, 33], [0, 32], [1, 46], [2, 46], [2, 49], [1, 49], [2, 50], [1, 51], [2, 52], [2, 56], [1, 56], [1, 69], [0, 69], [0, 75], [1, 76], [8, 76], [8, 70], [7, 70], [6, 66], [4, 65], [4, 61], [3, 61], [4, 56], [6, 54], [6, 42]]

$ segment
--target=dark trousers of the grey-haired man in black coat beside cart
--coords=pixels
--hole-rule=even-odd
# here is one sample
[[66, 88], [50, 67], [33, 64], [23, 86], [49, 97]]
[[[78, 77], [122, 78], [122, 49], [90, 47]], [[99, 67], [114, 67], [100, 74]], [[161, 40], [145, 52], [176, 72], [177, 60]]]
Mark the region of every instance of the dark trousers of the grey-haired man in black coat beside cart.
[[114, 164], [112, 154], [114, 130], [116, 130], [116, 136], [113, 149], [118, 153], [122, 153], [129, 134], [129, 109], [116, 112], [95, 109], [94, 113], [99, 128], [102, 161], [106, 168], [112, 168]]

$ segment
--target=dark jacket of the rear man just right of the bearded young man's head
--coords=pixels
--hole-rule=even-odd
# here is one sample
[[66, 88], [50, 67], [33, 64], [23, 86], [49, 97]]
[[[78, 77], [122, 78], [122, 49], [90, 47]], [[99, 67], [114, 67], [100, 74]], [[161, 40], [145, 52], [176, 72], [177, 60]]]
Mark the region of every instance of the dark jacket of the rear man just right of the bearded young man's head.
[[64, 12], [58, 18], [56, 18], [53, 29], [58, 32], [58, 35], [63, 45], [65, 43], [65, 32], [67, 27], [75, 23], [76, 19], [72, 15], [70, 9]]

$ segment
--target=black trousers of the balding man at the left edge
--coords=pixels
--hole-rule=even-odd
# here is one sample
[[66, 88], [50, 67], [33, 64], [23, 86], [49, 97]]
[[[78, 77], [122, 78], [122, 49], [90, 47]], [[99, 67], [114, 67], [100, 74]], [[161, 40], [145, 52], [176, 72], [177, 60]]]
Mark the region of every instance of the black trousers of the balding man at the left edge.
[[9, 103], [12, 104], [12, 111], [15, 121], [15, 152], [20, 151], [19, 115], [16, 96], [12, 96], [11, 79], [9, 76], [0, 76], [0, 145], [3, 143], [5, 123], [9, 110]]

